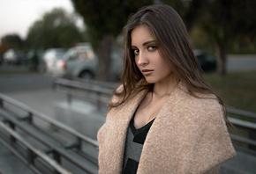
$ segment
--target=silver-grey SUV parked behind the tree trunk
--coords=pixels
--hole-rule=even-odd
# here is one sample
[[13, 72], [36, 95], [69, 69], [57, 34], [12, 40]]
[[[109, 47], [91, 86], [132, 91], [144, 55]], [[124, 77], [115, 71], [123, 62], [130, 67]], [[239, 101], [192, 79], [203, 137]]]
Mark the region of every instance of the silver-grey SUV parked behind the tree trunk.
[[[122, 73], [124, 50], [112, 48], [110, 54], [110, 80], [117, 81]], [[64, 54], [66, 77], [94, 79], [97, 73], [98, 57], [89, 43], [80, 43]]]

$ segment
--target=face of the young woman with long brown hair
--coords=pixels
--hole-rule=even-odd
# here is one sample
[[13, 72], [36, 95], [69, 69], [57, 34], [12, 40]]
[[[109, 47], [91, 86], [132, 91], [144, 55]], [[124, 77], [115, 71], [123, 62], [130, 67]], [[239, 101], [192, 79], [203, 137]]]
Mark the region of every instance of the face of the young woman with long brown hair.
[[158, 46], [147, 25], [139, 25], [132, 30], [132, 52], [137, 67], [147, 83], [161, 83], [171, 78], [172, 71], [159, 54]]

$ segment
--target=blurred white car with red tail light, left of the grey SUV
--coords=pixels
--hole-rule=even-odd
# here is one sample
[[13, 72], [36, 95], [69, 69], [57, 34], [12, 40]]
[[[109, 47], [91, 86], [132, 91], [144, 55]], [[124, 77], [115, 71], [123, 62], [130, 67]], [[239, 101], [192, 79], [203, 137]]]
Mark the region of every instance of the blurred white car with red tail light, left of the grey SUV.
[[42, 55], [45, 71], [52, 76], [64, 76], [66, 62], [64, 62], [64, 48], [49, 48]]

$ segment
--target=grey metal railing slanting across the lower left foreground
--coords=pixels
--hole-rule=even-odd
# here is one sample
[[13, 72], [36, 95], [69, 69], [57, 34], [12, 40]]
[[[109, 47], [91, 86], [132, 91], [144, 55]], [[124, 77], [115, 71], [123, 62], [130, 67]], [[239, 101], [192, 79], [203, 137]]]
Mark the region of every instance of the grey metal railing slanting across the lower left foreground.
[[[13, 112], [13, 107], [19, 112]], [[20, 116], [21, 112], [26, 112], [26, 116]], [[98, 148], [97, 141], [1, 93], [0, 118], [0, 143], [35, 173], [72, 173], [62, 165], [62, 159], [86, 173], [97, 172], [97, 159], [83, 151], [85, 143]], [[72, 141], [64, 141], [63, 137], [49, 133], [36, 125], [35, 119], [62, 130], [72, 137]], [[24, 134], [33, 141], [26, 140]]]

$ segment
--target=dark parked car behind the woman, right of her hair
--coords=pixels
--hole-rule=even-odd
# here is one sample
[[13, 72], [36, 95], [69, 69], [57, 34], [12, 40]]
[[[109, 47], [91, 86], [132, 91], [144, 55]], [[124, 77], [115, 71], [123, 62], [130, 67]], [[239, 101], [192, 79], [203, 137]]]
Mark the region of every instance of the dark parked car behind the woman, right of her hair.
[[200, 67], [204, 72], [215, 71], [217, 68], [217, 61], [214, 54], [209, 54], [200, 49], [193, 50], [194, 55], [198, 58]]

